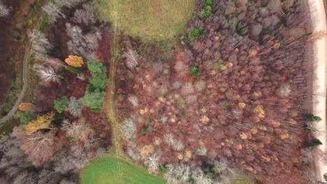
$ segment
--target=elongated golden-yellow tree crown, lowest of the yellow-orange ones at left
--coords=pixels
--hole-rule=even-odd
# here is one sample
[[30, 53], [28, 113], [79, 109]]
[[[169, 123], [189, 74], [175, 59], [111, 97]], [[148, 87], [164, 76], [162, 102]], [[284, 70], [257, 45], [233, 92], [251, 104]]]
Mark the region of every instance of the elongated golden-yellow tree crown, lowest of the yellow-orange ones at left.
[[27, 134], [31, 134], [33, 132], [36, 132], [37, 130], [49, 128], [53, 116], [54, 116], [53, 112], [50, 112], [43, 116], [38, 116], [36, 120], [29, 122], [27, 125], [24, 125], [25, 132], [27, 132]]

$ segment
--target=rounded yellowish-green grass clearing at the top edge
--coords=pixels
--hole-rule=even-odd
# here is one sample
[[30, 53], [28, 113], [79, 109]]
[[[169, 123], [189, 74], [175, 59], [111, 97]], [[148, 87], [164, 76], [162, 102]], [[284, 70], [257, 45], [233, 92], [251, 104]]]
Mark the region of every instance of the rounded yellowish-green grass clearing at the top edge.
[[183, 33], [196, 0], [97, 0], [104, 22], [119, 23], [119, 30], [147, 43], [172, 40]]

